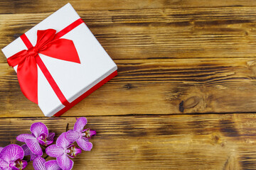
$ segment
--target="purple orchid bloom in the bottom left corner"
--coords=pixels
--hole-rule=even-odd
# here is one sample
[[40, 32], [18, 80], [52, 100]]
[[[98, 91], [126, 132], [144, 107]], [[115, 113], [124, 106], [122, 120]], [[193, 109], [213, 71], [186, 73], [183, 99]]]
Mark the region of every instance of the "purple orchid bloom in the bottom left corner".
[[22, 170], [28, 165], [28, 162], [22, 160], [24, 152], [22, 147], [11, 144], [1, 150], [0, 169], [2, 170]]

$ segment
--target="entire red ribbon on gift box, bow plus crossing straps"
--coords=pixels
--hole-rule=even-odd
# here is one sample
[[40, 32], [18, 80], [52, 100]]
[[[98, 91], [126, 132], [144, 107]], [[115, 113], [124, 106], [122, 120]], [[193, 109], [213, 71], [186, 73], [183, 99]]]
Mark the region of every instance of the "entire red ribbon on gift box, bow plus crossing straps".
[[18, 82], [21, 86], [21, 91], [30, 101], [38, 104], [38, 65], [61, 103], [63, 103], [64, 106], [70, 104], [50, 75], [46, 65], [43, 64], [38, 53], [58, 60], [80, 63], [78, 52], [75, 49], [73, 41], [60, 38], [70, 30], [73, 30], [73, 28], [79, 26], [80, 23], [83, 23], [82, 19], [71, 23], [70, 26], [60, 30], [57, 34], [55, 34], [56, 30], [53, 29], [38, 30], [37, 42], [34, 47], [25, 34], [21, 35], [21, 40], [23, 40], [26, 47], [28, 47], [28, 50], [22, 50], [12, 55], [7, 59], [7, 62], [11, 67], [18, 65]]

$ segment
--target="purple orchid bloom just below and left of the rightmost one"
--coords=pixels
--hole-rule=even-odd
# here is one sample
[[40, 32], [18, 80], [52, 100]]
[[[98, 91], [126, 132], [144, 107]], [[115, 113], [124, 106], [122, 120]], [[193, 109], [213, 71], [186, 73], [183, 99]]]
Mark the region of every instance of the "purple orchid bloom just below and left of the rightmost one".
[[73, 168], [74, 162], [69, 159], [69, 157], [75, 157], [77, 154], [80, 154], [82, 150], [72, 145], [73, 142], [69, 142], [65, 138], [65, 133], [66, 132], [63, 132], [58, 137], [56, 145], [50, 145], [46, 148], [46, 154], [50, 157], [55, 157], [61, 169], [70, 170]]

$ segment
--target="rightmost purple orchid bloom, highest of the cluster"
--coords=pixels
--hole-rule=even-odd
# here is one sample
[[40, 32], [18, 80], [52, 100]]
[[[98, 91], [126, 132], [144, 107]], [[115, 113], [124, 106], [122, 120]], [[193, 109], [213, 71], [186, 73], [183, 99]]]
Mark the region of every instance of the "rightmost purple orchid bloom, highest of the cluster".
[[92, 143], [89, 142], [89, 139], [96, 135], [96, 131], [90, 129], [83, 130], [86, 124], [86, 118], [78, 118], [74, 125], [74, 129], [68, 130], [68, 132], [66, 132], [66, 138], [70, 142], [77, 142], [81, 149], [90, 151], [92, 149]]

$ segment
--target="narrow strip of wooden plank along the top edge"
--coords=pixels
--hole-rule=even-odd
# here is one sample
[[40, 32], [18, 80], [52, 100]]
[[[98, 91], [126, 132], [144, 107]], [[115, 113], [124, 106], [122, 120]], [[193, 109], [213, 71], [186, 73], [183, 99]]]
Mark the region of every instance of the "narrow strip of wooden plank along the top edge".
[[119, 10], [119, 9], [144, 9], [144, 8], [183, 8], [183, 7], [216, 7], [216, 6], [256, 6], [253, 0], [73, 0], [73, 1], [31, 1], [31, 0], [2, 0], [1, 13], [42, 13], [53, 12], [70, 2], [78, 11], [87, 10]]

